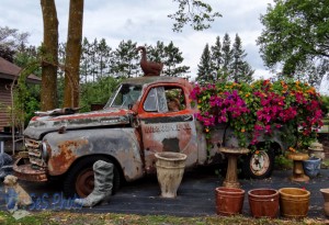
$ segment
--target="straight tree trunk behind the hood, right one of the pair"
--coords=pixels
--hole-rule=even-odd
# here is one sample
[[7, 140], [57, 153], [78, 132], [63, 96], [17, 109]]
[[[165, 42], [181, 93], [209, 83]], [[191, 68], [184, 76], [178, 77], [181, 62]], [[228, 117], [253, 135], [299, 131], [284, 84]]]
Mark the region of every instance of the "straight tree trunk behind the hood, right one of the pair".
[[83, 23], [83, 0], [70, 0], [65, 61], [64, 106], [79, 105], [79, 68]]

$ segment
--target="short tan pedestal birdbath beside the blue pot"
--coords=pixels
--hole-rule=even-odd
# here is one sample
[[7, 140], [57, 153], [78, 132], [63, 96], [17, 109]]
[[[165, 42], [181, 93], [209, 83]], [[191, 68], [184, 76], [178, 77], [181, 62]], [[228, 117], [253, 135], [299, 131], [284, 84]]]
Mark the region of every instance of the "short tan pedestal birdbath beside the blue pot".
[[307, 160], [309, 156], [303, 153], [292, 153], [287, 155], [288, 159], [292, 159], [294, 162], [293, 176], [291, 177], [292, 181], [307, 182], [309, 177], [304, 173], [303, 161]]

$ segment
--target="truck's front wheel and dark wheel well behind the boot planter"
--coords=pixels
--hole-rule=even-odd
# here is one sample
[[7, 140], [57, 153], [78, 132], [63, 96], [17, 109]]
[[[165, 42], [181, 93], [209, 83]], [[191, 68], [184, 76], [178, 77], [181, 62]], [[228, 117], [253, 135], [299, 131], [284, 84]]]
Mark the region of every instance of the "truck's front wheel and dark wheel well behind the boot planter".
[[106, 157], [88, 156], [77, 161], [67, 172], [63, 183], [63, 191], [67, 198], [86, 198], [92, 192], [94, 185], [92, 166], [98, 160], [113, 164], [112, 193], [120, 189], [122, 178], [117, 166]]

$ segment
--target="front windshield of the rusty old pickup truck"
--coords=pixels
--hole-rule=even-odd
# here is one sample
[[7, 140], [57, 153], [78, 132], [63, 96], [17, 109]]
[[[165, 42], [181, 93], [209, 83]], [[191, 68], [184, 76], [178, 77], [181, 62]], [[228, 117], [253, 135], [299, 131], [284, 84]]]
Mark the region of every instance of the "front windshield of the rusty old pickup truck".
[[141, 86], [121, 85], [107, 101], [105, 108], [131, 109], [141, 93]]

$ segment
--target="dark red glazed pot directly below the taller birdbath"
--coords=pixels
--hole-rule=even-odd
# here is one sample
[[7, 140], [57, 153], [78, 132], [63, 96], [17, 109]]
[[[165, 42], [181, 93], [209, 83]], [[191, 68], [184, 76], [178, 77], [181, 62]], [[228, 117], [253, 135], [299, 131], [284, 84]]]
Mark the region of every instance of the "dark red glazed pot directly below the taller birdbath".
[[245, 200], [245, 190], [219, 187], [216, 188], [215, 194], [216, 213], [218, 215], [241, 214]]

